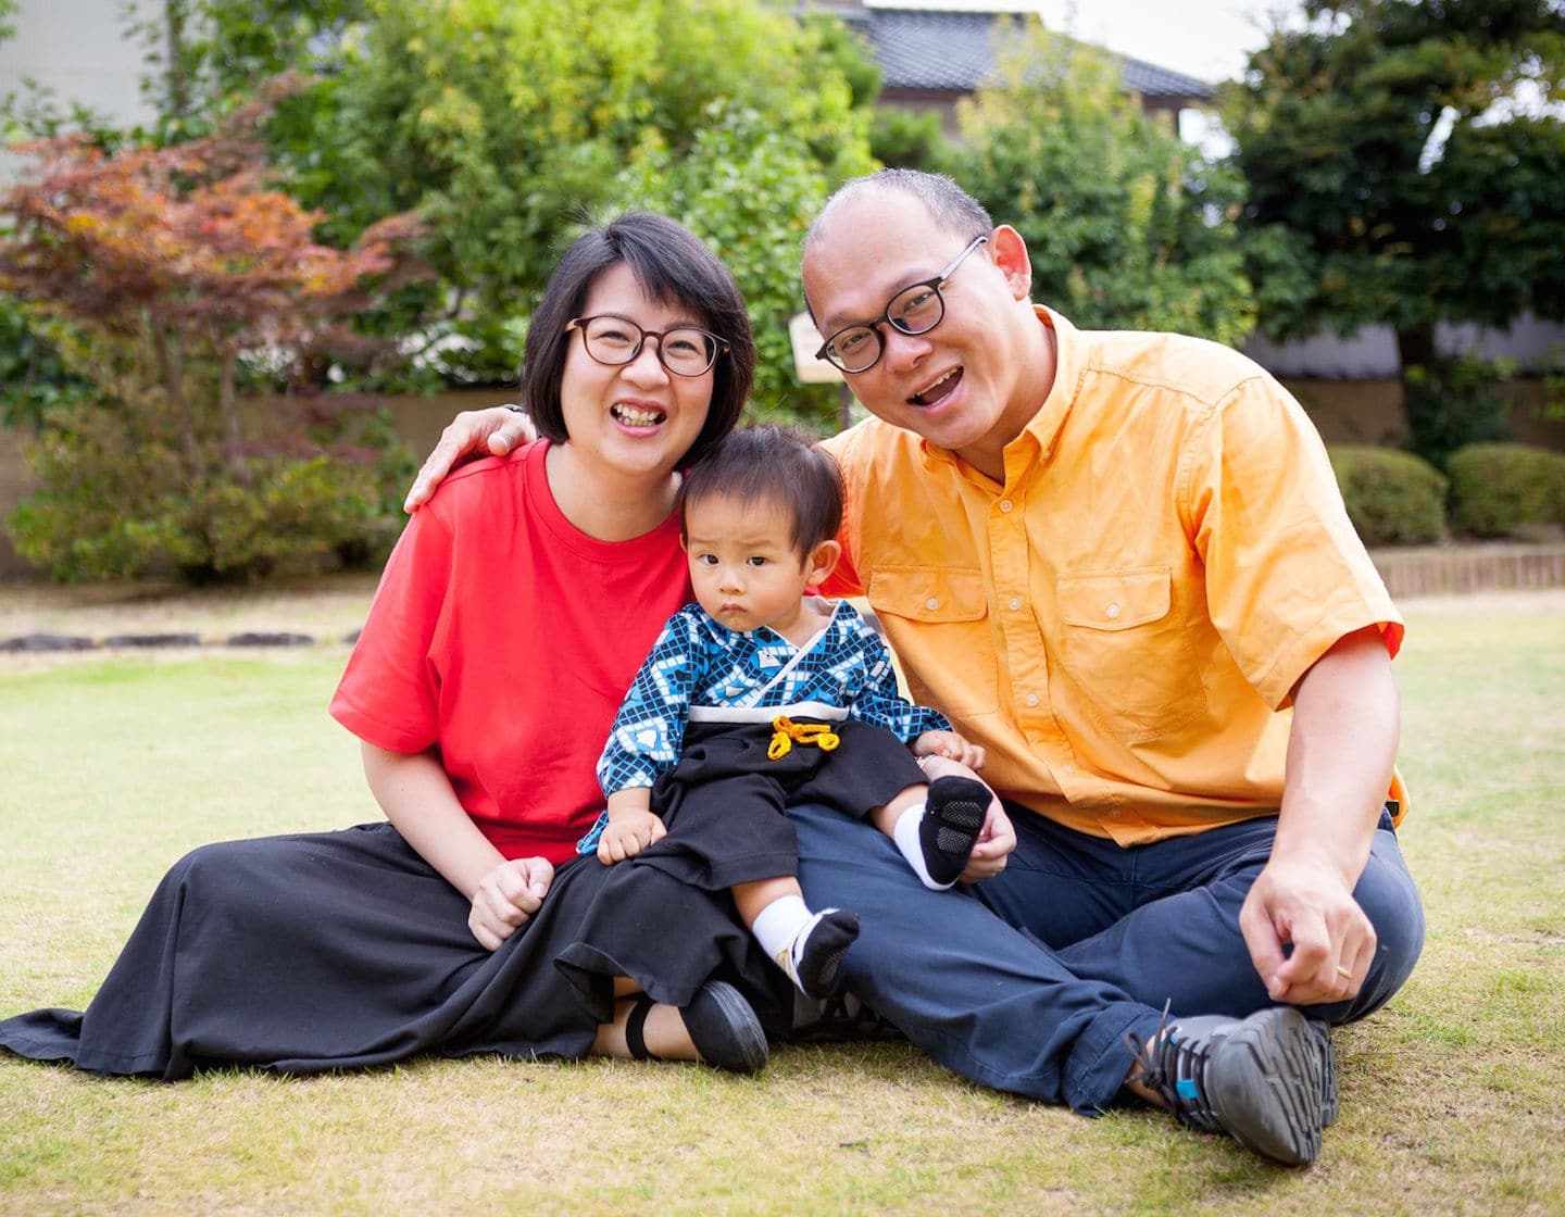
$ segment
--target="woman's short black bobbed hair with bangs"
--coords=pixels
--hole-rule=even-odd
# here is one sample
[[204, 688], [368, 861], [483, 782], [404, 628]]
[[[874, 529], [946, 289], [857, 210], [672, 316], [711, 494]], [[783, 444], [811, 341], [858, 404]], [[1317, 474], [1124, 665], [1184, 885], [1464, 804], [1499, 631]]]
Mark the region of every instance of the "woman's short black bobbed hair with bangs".
[[728, 354], [718, 355], [714, 364], [706, 425], [681, 458], [681, 465], [689, 465], [739, 422], [756, 375], [756, 339], [745, 297], [728, 267], [667, 216], [626, 211], [579, 236], [565, 250], [527, 327], [521, 400], [540, 435], [557, 444], [570, 438], [560, 411], [560, 380], [570, 344], [581, 339], [565, 327], [581, 316], [598, 275], [620, 263], [631, 267], [648, 297], [693, 310], [704, 328], [728, 343]]

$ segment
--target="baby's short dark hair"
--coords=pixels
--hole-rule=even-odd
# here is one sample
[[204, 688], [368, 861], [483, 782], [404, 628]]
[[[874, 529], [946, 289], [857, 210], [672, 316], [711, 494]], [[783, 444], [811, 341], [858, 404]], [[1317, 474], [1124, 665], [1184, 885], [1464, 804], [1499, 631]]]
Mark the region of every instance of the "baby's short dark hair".
[[842, 524], [842, 471], [831, 454], [792, 427], [750, 427], [709, 447], [679, 488], [681, 535], [692, 502], [715, 494], [750, 505], [786, 507], [793, 518], [789, 540], [800, 558], [837, 535]]

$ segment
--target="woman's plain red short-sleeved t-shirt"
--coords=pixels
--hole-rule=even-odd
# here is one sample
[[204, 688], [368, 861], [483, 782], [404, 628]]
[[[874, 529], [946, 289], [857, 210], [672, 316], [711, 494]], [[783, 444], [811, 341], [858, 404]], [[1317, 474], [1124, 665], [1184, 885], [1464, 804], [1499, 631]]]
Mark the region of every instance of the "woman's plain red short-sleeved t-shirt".
[[670, 613], [692, 598], [679, 521], [579, 532], [548, 441], [446, 477], [387, 563], [332, 716], [393, 752], [435, 749], [505, 857], [562, 862], [603, 807], [593, 766]]

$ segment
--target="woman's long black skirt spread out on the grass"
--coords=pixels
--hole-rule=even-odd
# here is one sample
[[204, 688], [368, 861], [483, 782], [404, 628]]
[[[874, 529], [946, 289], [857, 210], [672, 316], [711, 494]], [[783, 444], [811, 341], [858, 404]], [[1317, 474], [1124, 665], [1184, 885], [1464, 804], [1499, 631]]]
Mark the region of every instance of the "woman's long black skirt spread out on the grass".
[[167, 1081], [216, 1065], [321, 1073], [416, 1054], [584, 1056], [612, 978], [682, 1006], [737, 984], [773, 1034], [792, 996], [726, 893], [568, 862], [498, 951], [390, 824], [208, 845], [164, 876], [86, 1011], [0, 1021], [0, 1048]]

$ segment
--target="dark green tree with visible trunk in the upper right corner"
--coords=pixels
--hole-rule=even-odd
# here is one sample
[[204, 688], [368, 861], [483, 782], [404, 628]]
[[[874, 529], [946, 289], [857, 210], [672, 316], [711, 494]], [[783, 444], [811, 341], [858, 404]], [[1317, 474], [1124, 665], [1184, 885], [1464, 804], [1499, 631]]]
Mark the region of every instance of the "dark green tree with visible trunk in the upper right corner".
[[[1396, 332], [1415, 446], [1493, 429], [1495, 394], [1438, 358], [1437, 322], [1565, 318], [1565, 6], [1305, 0], [1227, 91], [1246, 227], [1275, 338]], [[1454, 418], [1463, 415], [1465, 418]]]

